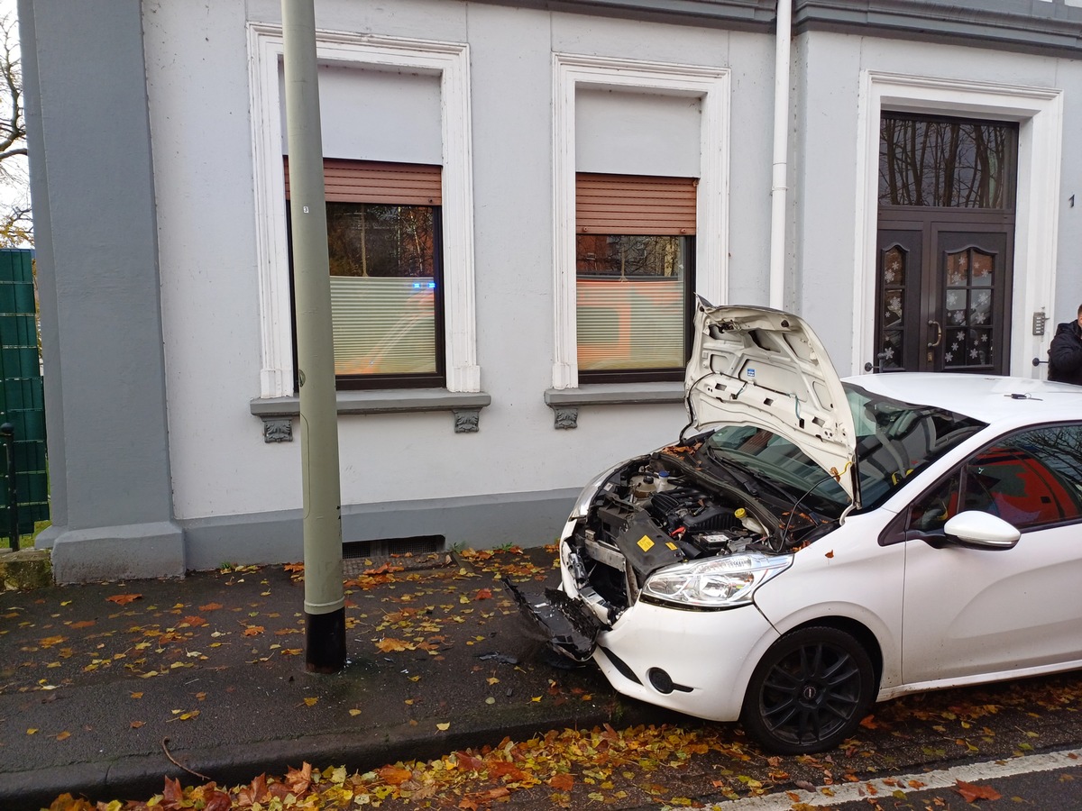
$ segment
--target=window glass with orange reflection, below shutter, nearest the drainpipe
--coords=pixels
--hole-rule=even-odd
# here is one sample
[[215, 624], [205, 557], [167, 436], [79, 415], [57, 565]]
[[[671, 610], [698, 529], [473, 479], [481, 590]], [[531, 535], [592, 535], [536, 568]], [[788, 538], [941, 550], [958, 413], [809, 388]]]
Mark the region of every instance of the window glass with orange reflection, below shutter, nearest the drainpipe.
[[691, 241], [676, 236], [578, 235], [580, 371], [684, 367]]

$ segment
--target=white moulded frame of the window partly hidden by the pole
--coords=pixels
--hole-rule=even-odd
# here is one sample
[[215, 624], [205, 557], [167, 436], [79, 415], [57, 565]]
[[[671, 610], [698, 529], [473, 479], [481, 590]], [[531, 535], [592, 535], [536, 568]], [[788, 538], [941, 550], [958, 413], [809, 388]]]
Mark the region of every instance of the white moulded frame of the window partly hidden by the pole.
[[[288, 397], [294, 393], [278, 91], [278, 66], [283, 50], [281, 26], [250, 23], [248, 49], [262, 336], [260, 397]], [[354, 68], [398, 67], [439, 77], [447, 389], [479, 391], [469, 46], [320, 30], [316, 31], [316, 53], [320, 64]]]

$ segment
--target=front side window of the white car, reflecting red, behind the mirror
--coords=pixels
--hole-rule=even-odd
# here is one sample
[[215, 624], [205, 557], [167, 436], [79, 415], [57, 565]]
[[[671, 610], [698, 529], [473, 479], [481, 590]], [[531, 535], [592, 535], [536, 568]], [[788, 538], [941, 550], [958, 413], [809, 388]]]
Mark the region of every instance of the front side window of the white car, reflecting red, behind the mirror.
[[1082, 426], [1029, 428], [984, 449], [914, 502], [910, 527], [935, 532], [971, 509], [1020, 530], [1082, 519]]

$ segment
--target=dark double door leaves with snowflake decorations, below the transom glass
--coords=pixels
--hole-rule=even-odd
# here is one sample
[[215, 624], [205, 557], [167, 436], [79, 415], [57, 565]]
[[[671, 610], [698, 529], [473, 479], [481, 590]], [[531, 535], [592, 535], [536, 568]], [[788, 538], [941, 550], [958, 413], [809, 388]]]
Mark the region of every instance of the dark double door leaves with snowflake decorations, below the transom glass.
[[966, 220], [880, 222], [876, 371], [1006, 373], [1014, 227]]

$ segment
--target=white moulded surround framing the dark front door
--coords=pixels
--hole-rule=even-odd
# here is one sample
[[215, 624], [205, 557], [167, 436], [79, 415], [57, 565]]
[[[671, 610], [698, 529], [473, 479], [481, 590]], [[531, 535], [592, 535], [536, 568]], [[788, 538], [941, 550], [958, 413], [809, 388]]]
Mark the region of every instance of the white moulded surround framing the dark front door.
[[1011, 373], [1037, 377], [1042, 336], [1030, 314], [1055, 313], [1056, 232], [1063, 146], [1063, 91], [862, 70], [857, 138], [853, 365], [874, 355], [875, 242], [879, 216], [880, 117], [884, 110], [1018, 122]]

